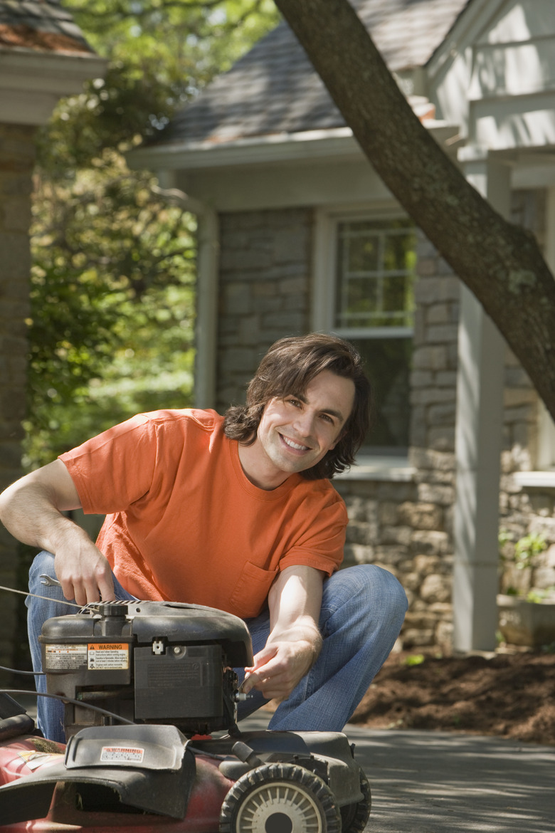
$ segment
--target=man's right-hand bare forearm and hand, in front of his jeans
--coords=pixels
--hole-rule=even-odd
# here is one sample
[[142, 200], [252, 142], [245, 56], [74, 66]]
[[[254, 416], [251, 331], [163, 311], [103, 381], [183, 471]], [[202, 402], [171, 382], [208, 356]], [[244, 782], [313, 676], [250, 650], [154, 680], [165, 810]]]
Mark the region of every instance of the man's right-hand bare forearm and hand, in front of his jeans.
[[246, 668], [243, 691], [285, 700], [320, 654], [318, 630], [324, 573], [308, 566], [281, 571], [268, 595], [270, 636]]

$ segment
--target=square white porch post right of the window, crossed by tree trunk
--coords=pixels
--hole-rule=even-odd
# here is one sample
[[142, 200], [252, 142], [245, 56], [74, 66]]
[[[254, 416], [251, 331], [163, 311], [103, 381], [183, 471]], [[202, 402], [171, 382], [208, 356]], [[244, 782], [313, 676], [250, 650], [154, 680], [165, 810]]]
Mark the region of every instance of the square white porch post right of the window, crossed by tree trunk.
[[[464, 149], [466, 150], [466, 149]], [[510, 170], [468, 148], [473, 186], [498, 212], [510, 210]], [[505, 342], [467, 287], [458, 327], [457, 497], [454, 511], [453, 648], [491, 651], [498, 626], [499, 476]]]

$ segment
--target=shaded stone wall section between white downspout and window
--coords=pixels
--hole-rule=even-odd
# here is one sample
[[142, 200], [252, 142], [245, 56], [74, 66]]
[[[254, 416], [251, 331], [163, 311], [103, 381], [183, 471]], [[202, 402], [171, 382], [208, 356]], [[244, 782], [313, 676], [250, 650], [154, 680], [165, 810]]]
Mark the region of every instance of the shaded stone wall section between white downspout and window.
[[313, 212], [305, 208], [224, 214], [221, 222], [217, 405], [245, 401], [270, 344], [310, 321]]

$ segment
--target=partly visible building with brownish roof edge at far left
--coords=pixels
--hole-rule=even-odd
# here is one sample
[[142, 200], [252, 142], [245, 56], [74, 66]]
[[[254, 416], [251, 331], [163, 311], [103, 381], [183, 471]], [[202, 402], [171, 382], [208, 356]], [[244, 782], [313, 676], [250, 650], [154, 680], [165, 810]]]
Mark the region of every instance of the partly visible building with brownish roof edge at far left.
[[[22, 475], [34, 137], [60, 97], [105, 67], [57, 0], [0, 0], [0, 491]], [[0, 584], [17, 586], [16, 544], [2, 526]], [[0, 592], [0, 662], [9, 663], [22, 602]]]

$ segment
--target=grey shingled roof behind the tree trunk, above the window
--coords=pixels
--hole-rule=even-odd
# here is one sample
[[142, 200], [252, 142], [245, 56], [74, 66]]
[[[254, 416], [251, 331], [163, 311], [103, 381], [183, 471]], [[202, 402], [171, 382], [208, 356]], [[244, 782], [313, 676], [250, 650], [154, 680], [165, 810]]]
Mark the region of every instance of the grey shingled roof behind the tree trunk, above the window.
[[[472, 0], [352, 0], [389, 69], [424, 67]], [[344, 127], [303, 47], [281, 22], [187, 104], [156, 144], [208, 145]]]

